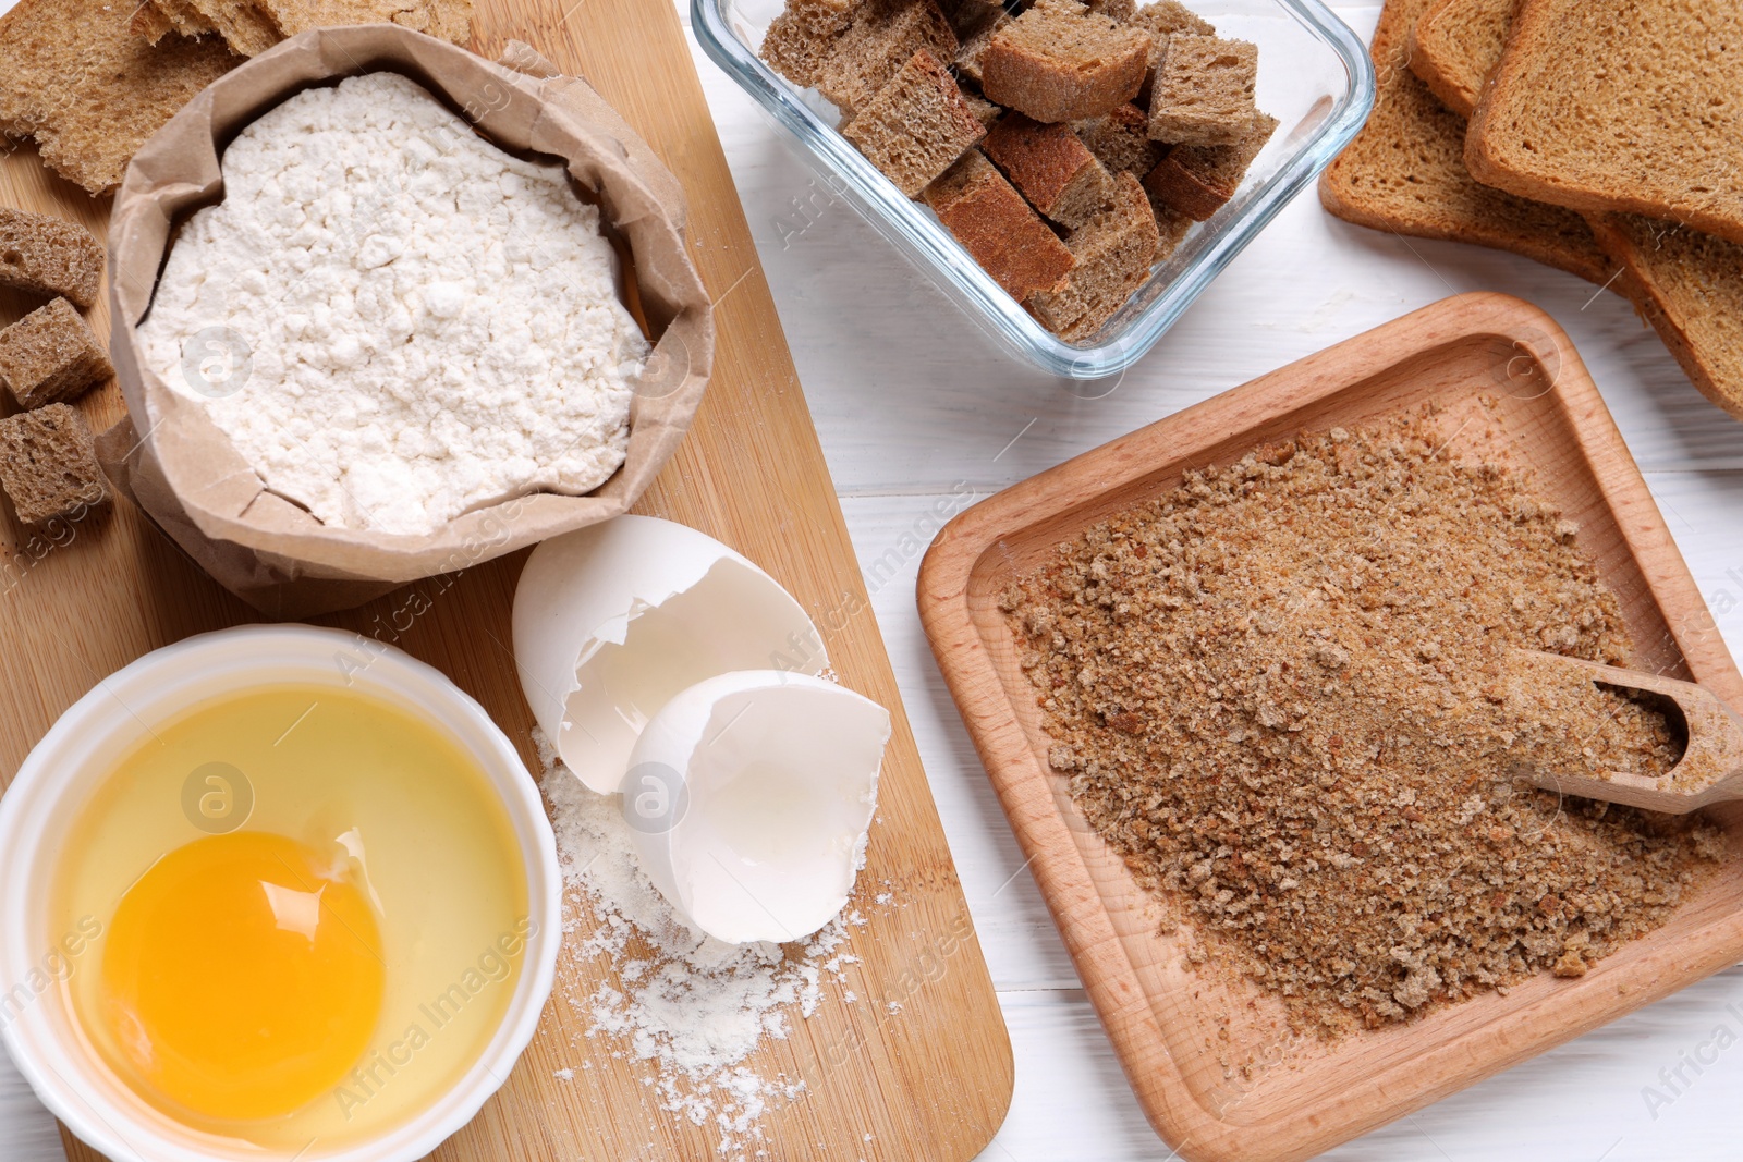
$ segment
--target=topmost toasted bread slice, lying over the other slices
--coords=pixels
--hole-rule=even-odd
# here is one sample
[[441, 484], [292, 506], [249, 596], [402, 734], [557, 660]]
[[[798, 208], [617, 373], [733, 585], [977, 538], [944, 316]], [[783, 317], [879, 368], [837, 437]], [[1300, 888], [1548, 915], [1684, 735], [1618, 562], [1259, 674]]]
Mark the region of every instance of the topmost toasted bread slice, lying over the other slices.
[[1743, 242], [1743, 5], [1523, 0], [1464, 157], [1520, 197]]

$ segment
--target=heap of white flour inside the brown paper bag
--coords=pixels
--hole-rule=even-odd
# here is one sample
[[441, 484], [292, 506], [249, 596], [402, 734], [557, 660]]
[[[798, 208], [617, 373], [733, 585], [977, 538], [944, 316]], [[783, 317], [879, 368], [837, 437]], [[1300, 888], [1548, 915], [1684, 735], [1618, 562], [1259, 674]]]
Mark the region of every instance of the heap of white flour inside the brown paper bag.
[[139, 324], [267, 488], [427, 533], [622, 463], [647, 343], [600, 213], [394, 73], [310, 89], [223, 155]]

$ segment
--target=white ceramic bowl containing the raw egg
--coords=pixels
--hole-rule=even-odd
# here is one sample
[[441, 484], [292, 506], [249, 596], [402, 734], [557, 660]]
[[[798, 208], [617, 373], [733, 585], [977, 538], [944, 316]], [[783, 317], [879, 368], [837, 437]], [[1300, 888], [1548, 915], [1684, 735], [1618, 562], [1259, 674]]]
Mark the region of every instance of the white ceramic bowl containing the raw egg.
[[[155, 650], [98, 683], [24, 760], [0, 798], [0, 1024], [37, 1096], [80, 1139], [112, 1159], [193, 1162], [239, 1157], [234, 1143], [187, 1129], [132, 1094], [77, 1031], [61, 990], [42, 972], [56, 948], [47, 876], [94, 786], [146, 732], [181, 709], [253, 685], [349, 686], [443, 725], [478, 761], [514, 826], [537, 929], [521, 976], [485, 1052], [444, 1096], [408, 1122], [298, 1162], [422, 1159], [465, 1125], [509, 1075], [539, 1024], [561, 944], [561, 873], [539, 789], [485, 709], [443, 672], [361, 634], [312, 625], [244, 625]], [[35, 976], [33, 976], [35, 974]], [[47, 979], [45, 988], [37, 988]], [[267, 1152], [249, 1157], [267, 1159]]]

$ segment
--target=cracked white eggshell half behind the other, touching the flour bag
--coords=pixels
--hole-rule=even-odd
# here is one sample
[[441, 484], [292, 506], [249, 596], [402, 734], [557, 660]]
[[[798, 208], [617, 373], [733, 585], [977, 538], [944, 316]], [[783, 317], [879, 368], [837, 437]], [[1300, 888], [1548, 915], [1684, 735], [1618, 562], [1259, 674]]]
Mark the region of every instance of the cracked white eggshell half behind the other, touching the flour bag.
[[614, 794], [680, 690], [744, 669], [821, 674], [830, 659], [804, 606], [749, 559], [687, 524], [621, 516], [526, 559], [514, 662], [563, 765]]

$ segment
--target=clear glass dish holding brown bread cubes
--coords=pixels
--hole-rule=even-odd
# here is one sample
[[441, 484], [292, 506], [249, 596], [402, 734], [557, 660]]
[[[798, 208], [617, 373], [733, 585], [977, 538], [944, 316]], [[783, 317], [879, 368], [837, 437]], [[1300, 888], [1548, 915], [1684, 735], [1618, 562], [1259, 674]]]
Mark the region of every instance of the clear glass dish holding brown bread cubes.
[[756, 47], [783, 0], [692, 0], [690, 26], [720, 64], [798, 146], [817, 178], [926, 272], [1011, 354], [1042, 371], [1095, 380], [1143, 357], [1192, 300], [1342, 150], [1373, 106], [1361, 40], [1318, 0], [1187, 0], [1217, 35], [1258, 45], [1258, 108], [1278, 132], [1234, 200], [1196, 226], [1150, 280], [1081, 343], [1042, 328], [983, 272], [924, 202], [910, 202], [837, 132], [840, 113], [762, 63]]

